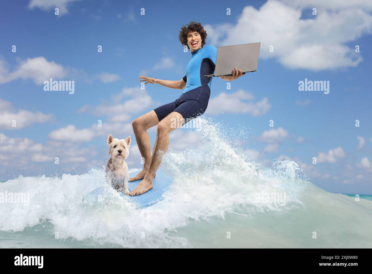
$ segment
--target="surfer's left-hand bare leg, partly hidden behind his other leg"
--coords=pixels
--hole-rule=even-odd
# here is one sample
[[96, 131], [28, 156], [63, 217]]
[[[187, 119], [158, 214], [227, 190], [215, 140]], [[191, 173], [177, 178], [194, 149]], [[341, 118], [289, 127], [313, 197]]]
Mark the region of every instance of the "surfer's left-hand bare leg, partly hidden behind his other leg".
[[136, 176], [129, 178], [129, 182], [143, 179], [147, 173], [148, 168], [150, 167], [151, 143], [150, 136], [148, 136], [147, 130], [150, 127], [156, 126], [158, 123], [159, 119], [154, 110], [145, 113], [144, 115], [134, 119], [134, 121], [132, 122], [138, 149], [141, 152], [141, 156], [144, 158], [144, 163], [143, 169]]

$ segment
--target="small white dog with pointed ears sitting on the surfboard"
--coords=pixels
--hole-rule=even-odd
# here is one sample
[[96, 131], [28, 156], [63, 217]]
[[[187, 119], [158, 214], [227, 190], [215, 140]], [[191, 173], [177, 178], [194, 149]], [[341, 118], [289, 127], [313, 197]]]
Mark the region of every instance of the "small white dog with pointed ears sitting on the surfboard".
[[111, 134], [109, 134], [107, 145], [109, 146], [109, 154], [111, 157], [106, 163], [106, 182], [119, 192], [121, 192], [124, 187], [124, 193], [128, 194], [129, 171], [124, 160], [129, 155], [131, 136], [119, 140], [118, 138], [113, 138]]

